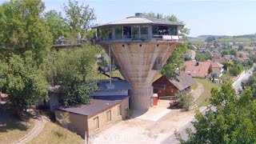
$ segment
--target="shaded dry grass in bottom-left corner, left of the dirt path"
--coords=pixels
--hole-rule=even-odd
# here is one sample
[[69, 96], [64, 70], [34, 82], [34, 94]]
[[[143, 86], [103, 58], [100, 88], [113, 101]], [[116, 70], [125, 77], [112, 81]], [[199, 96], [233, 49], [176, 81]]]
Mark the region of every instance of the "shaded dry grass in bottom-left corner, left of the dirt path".
[[34, 122], [34, 118], [30, 118], [28, 121], [6, 118], [6, 126], [0, 127], [0, 143], [11, 143], [22, 138], [33, 129]]

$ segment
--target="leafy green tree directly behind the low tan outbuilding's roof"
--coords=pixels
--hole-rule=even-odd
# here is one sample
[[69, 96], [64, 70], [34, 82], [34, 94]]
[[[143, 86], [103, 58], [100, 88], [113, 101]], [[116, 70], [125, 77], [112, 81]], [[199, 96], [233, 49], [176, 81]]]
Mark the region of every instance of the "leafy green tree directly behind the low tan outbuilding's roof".
[[[53, 56], [57, 62], [50, 61], [53, 68], [48, 78], [54, 83], [61, 82], [62, 97], [59, 102], [63, 106], [87, 104], [94, 90], [97, 90], [95, 78], [95, 55], [98, 54], [98, 46], [85, 46], [70, 51], [59, 51]], [[52, 73], [51, 73], [52, 72]]]

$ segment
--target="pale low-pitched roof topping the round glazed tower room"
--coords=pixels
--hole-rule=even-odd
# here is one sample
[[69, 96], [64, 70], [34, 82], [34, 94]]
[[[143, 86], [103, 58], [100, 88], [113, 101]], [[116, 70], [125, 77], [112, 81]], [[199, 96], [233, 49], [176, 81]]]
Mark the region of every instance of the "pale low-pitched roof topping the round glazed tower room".
[[94, 26], [93, 28], [105, 27], [105, 26], [124, 26], [124, 25], [169, 25], [169, 26], [184, 26], [181, 22], [170, 22], [166, 19], [150, 18], [144, 14], [136, 13], [135, 16], [131, 16], [115, 22], [109, 22], [106, 24]]

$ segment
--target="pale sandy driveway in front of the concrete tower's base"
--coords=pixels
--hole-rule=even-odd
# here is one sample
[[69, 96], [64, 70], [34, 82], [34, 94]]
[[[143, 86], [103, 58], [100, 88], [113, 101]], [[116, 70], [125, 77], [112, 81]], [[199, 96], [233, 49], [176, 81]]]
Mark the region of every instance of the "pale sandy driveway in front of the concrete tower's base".
[[136, 116], [103, 131], [90, 138], [92, 143], [161, 143], [188, 125], [194, 118], [194, 110], [181, 112], [169, 110], [169, 101], [160, 102], [159, 106], [151, 107], [146, 114]]

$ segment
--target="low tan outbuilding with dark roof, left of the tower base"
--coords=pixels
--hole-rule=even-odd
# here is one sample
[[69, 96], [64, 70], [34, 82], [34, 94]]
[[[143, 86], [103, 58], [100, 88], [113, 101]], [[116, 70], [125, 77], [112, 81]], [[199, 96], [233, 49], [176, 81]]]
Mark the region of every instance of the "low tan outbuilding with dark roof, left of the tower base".
[[68, 114], [70, 122], [66, 128], [81, 135], [90, 137], [106, 130], [126, 118], [129, 108], [129, 96], [96, 96], [89, 105], [55, 108], [56, 121], [62, 125], [63, 115]]

